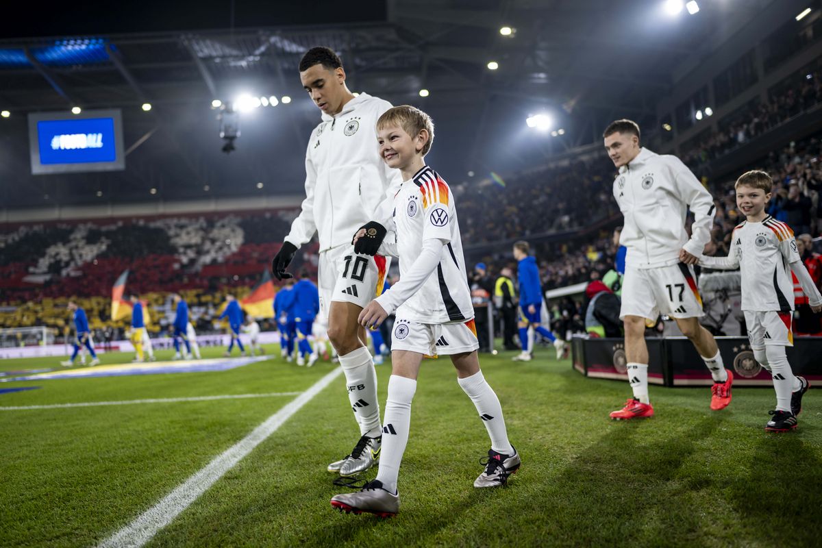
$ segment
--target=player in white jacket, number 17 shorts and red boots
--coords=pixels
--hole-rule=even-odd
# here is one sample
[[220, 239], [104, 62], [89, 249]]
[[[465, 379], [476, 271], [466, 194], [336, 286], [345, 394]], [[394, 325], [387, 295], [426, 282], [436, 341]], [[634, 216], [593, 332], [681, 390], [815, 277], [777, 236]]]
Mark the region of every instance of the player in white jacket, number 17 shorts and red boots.
[[[702, 299], [694, 267], [713, 226], [713, 197], [675, 156], [640, 147], [640, 127], [630, 120], [612, 122], [604, 131], [605, 150], [619, 174], [613, 183], [625, 224], [626, 272], [620, 317], [625, 325], [628, 380], [634, 391], [617, 420], [652, 417], [648, 395], [648, 347], [645, 321], [664, 314], [677, 320], [713, 377], [711, 409], [731, 403], [733, 377], [726, 371], [713, 335], [699, 323]], [[691, 237], [685, 228], [694, 214]]]

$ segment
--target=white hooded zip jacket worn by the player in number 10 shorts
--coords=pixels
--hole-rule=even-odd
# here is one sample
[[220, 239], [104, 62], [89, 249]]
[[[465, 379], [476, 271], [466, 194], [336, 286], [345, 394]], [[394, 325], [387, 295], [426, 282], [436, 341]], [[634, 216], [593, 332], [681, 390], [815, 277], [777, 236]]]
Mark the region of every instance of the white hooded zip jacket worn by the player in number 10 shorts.
[[380, 158], [376, 120], [388, 101], [359, 94], [335, 116], [322, 114], [306, 150], [306, 199], [286, 242], [302, 246], [319, 233], [320, 251], [351, 244], [368, 221], [388, 227], [399, 169]]

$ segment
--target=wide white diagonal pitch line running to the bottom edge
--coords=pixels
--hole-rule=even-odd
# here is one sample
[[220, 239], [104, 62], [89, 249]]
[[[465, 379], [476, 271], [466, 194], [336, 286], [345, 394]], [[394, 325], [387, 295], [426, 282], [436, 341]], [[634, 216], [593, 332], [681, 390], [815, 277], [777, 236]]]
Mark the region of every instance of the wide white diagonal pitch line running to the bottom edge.
[[199, 472], [183, 481], [163, 500], [146, 510], [126, 527], [122, 527], [99, 546], [101, 548], [121, 548], [122, 546], [137, 548], [145, 545], [157, 532], [169, 525], [174, 518], [205, 493], [205, 490], [214, 485], [215, 481], [223, 477], [225, 472], [228, 472], [242, 458], [251, 453], [252, 449], [277, 431], [285, 421], [289, 420], [289, 417], [311, 401], [322, 389], [330, 385], [331, 381], [335, 380], [342, 372], [342, 368], [337, 367], [334, 371], [316, 381], [311, 388], [302, 392], [297, 398], [287, 403], [284, 408], [268, 417], [251, 434], [226, 449], [223, 454], [220, 454]]

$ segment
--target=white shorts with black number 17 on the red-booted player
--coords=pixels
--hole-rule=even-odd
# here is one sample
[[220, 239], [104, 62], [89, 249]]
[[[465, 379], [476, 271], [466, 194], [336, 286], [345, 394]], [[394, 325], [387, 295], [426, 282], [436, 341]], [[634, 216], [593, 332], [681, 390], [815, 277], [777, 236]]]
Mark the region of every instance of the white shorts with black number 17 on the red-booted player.
[[702, 297], [696, 287], [694, 267], [685, 263], [654, 269], [626, 266], [620, 320], [626, 315], [656, 320], [660, 314], [672, 318], [702, 315]]

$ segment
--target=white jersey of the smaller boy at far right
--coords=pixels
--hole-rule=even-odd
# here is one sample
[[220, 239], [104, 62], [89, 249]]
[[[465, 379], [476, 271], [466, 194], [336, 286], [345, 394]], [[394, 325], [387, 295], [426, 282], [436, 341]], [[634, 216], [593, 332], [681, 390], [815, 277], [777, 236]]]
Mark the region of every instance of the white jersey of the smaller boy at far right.
[[733, 229], [727, 257], [702, 257], [708, 268], [739, 266], [743, 311], [792, 311], [791, 263], [800, 261], [797, 242], [787, 224], [768, 215], [761, 223], [747, 221]]

